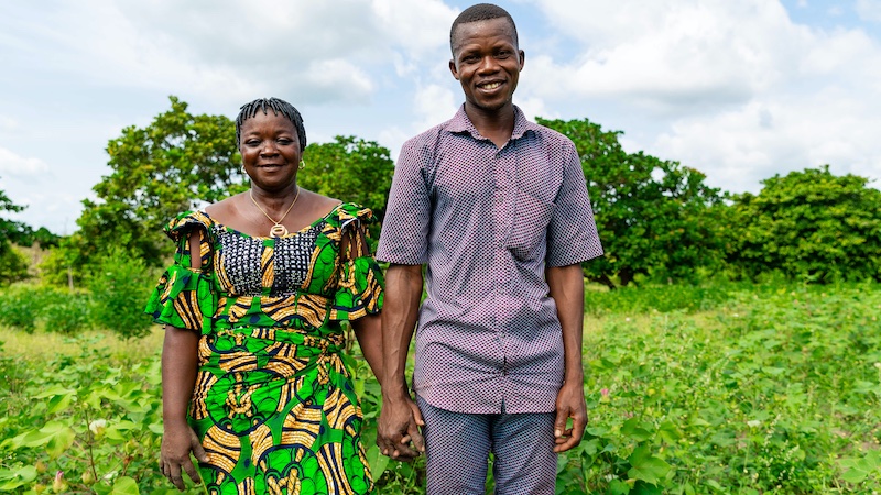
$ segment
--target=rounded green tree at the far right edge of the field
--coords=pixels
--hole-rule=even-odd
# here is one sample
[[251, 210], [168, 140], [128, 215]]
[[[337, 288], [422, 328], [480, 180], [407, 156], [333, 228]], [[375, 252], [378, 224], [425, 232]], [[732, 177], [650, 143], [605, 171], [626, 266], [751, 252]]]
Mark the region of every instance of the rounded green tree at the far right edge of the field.
[[881, 280], [881, 191], [856, 175], [806, 168], [733, 197], [728, 261], [755, 277]]

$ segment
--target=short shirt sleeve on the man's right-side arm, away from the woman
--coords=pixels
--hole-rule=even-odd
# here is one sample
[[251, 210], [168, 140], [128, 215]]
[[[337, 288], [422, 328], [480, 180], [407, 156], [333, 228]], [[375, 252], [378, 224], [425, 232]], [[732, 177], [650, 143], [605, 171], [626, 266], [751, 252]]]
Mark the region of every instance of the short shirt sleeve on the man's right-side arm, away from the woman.
[[546, 266], [573, 265], [602, 255], [581, 162], [572, 141], [566, 139], [564, 145], [563, 185], [547, 228]]

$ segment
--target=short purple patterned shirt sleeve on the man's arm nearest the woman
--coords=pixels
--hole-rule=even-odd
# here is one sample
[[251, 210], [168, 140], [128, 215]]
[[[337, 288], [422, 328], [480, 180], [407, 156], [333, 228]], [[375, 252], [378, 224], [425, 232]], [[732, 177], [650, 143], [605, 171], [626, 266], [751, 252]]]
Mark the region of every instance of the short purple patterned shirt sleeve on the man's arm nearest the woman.
[[426, 165], [432, 160], [429, 146], [416, 139], [404, 143], [394, 168], [377, 260], [402, 265], [427, 262], [432, 204]]

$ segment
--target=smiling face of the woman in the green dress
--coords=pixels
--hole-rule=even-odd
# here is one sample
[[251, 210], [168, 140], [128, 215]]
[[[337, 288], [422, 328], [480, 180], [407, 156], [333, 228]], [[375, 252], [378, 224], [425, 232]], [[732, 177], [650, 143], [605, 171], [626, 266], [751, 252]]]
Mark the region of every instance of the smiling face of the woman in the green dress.
[[281, 190], [296, 183], [303, 151], [294, 124], [284, 116], [258, 111], [242, 122], [239, 152], [254, 186]]

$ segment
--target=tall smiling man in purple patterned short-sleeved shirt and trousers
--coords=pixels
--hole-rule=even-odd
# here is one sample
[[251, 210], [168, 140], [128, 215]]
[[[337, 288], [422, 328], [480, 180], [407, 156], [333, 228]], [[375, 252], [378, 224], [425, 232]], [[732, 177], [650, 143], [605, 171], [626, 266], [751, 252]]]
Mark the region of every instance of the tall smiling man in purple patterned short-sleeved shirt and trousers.
[[512, 102], [524, 53], [508, 12], [466, 9], [450, 50], [465, 103], [404, 144], [377, 252], [391, 264], [377, 443], [418, 455], [424, 418], [429, 494], [482, 494], [490, 452], [497, 493], [553, 494], [556, 453], [587, 424], [580, 263], [602, 249], [575, 145]]

